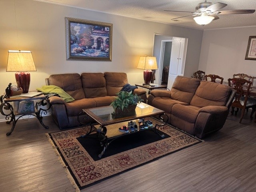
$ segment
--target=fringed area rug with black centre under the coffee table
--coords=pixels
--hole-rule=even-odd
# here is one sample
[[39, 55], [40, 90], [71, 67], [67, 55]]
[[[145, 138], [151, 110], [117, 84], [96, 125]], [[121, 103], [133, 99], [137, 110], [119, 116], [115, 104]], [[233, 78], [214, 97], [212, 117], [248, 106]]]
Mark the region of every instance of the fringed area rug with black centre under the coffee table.
[[[151, 120], [153, 124], [161, 124], [154, 118], [146, 120]], [[125, 134], [111, 142], [100, 159], [98, 154], [102, 147], [96, 139], [97, 135], [92, 133], [86, 138], [80, 137], [88, 130], [89, 127], [86, 126], [46, 134], [77, 191], [201, 142], [176, 128], [164, 125], [159, 129], [160, 134], [165, 135], [164, 138], [152, 130]], [[107, 130], [111, 129], [107, 126]]]

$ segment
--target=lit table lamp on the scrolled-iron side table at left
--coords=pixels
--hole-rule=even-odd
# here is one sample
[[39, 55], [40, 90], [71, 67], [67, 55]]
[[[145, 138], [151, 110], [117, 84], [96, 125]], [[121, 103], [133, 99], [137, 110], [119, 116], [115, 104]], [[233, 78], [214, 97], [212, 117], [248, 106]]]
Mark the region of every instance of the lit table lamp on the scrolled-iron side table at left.
[[36, 71], [32, 52], [9, 50], [6, 71], [17, 71], [15, 73], [16, 82], [23, 89], [23, 93], [27, 93], [30, 85], [28, 71]]

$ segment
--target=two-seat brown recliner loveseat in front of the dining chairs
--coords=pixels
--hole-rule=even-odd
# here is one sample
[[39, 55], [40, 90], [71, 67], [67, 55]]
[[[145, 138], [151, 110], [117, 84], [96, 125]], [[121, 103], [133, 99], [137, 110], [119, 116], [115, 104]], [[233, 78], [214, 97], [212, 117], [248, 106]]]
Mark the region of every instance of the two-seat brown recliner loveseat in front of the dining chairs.
[[223, 127], [234, 95], [226, 85], [177, 76], [170, 91], [152, 90], [148, 104], [164, 110], [173, 126], [204, 138]]

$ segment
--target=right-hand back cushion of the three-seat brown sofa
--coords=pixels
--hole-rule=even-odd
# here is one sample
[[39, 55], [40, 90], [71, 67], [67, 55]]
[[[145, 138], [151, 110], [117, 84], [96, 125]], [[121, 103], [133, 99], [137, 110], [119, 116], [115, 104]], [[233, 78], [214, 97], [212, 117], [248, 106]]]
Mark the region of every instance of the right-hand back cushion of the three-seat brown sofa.
[[128, 83], [126, 73], [105, 72], [106, 88], [108, 96], [116, 96], [122, 87]]

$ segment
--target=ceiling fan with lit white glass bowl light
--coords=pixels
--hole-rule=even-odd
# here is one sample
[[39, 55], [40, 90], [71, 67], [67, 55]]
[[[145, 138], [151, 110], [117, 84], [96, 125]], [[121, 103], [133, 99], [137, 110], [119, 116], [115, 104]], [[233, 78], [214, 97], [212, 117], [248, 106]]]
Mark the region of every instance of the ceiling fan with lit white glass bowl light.
[[202, 3], [199, 3], [196, 6], [196, 12], [190, 12], [190, 11], [172, 11], [172, 10], [164, 10], [164, 11], [172, 11], [172, 12], [186, 12], [190, 13], [190, 15], [182, 16], [182, 17], [176, 17], [172, 18], [171, 20], [176, 20], [178, 18], [188, 17], [188, 16], [196, 16], [194, 17], [194, 20], [197, 24], [200, 24], [202, 26], [209, 24], [213, 20], [219, 19], [217, 16], [218, 14], [224, 15], [224, 14], [248, 14], [248, 13], [254, 13], [255, 9], [235, 9], [235, 10], [220, 10], [224, 7], [226, 7], [227, 4], [225, 3], [212, 3], [207, 2], [206, 0]]

